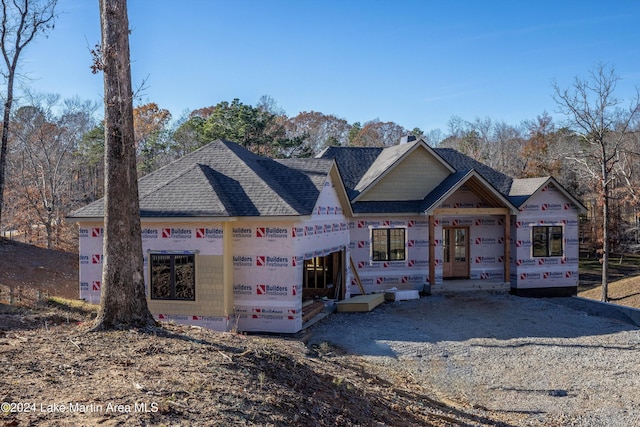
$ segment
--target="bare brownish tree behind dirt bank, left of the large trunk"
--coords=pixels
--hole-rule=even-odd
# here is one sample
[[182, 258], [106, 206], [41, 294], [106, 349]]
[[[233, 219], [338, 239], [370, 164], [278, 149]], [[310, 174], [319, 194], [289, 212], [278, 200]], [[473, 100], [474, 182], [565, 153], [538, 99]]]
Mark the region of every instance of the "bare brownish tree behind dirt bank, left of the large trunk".
[[18, 108], [12, 115], [8, 165], [13, 167], [7, 168], [6, 177], [10, 206], [21, 213], [14, 217], [12, 228], [22, 229], [30, 241], [37, 241], [34, 231], [39, 236], [44, 227], [50, 249], [61, 243], [63, 229], [68, 235], [64, 216], [73, 200], [69, 191], [72, 154], [95, 122], [95, 103], [79, 99], [60, 103], [59, 98], [32, 96], [31, 105]]

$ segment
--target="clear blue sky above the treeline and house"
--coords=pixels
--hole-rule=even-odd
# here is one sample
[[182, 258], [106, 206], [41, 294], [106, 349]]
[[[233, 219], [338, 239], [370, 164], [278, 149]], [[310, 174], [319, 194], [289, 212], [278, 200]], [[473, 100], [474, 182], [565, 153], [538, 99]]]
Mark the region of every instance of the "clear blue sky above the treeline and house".
[[[23, 53], [26, 84], [102, 99], [90, 71], [98, 0], [59, 0], [48, 38]], [[269, 95], [289, 116], [320, 111], [364, 123], [447, 131], [452, 116], [517, 125], [562, 117], [552, 81], [598, 63], [640, 87], [638, 1], [129, 0], [138, 104], [185, 111]]]

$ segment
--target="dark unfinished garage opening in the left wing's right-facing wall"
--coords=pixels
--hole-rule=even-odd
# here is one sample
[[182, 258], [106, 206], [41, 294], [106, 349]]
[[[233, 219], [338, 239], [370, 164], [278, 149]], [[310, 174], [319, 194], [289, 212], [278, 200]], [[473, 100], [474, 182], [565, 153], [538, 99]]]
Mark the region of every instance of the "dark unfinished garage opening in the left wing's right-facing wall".
[[316, 256], [303, 264], [302, 299], [344, 299], [344, 251]]

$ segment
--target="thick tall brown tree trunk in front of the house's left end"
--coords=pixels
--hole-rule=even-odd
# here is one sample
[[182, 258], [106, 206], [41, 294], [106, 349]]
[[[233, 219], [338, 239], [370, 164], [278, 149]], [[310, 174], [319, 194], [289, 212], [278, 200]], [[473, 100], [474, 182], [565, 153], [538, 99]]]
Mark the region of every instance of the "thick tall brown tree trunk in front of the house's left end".
[[100, 0], [105, 103], [102, 291], [94, 330], [155, 325], [144, 288], [126, 0]]

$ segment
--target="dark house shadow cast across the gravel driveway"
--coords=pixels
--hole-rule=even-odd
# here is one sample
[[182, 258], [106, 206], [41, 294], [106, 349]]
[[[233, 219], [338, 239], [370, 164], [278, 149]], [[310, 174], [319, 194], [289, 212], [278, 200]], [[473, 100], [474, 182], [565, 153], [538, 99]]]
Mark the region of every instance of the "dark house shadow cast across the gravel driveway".
[[332, 314], [311, 327], [309, 344], [326, 341], [351, 354], [396, 357], [389, 344], [575, 338], [638, 329], [615, 309], [572, 300], [474, 292], [388, 302], [368, 313]]

